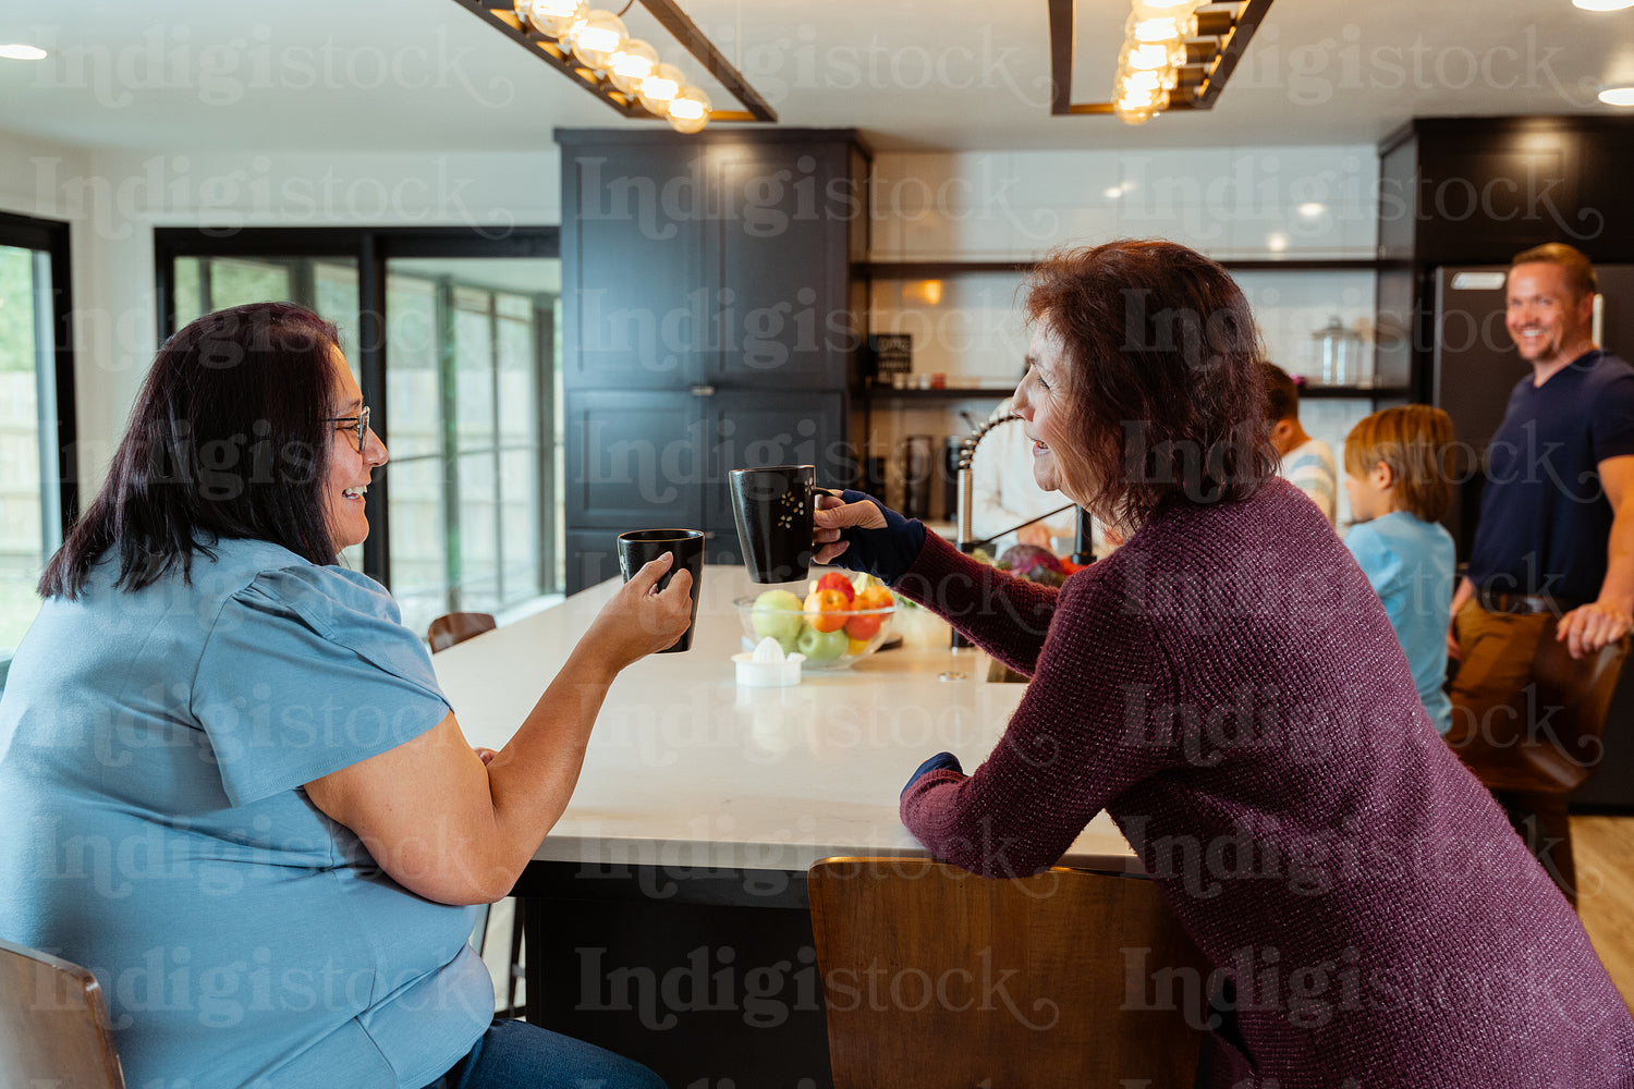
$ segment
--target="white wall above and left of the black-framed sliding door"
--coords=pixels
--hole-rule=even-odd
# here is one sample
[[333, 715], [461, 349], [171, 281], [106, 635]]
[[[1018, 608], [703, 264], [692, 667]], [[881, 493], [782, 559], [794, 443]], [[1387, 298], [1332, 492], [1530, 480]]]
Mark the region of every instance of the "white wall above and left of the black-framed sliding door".
[[0, 209], [74, 233], [82, 495], [158, 346], [154, 227], [428, 227], [560, 222], [556, 147], [510, 153], [116, 152], [0, 132]]

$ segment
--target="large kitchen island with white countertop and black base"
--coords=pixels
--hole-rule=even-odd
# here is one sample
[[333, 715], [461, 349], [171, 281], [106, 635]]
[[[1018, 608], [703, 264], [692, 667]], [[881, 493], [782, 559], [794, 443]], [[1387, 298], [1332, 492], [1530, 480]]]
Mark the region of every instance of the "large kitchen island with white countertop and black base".
[[[505, 745], [614, 589], [433, 658], [472, 745]], [[516, 885], [528, 1019], [676, 1087], [830, 1084], [806, 869], [923, 856], [897, 820], [907, 777], [943, 749], [974, 769], [1025, 692], [989, 682], [987, 656], [949, 650], [923, 611], [894, 617], [904, 648], [739, 689], [732, 601], [761, 589], [740, 567], [704, 568], [691, 650], [613, 684], [574, 800]], [[1105, 813], [1062, 862], [1139, 872]]]

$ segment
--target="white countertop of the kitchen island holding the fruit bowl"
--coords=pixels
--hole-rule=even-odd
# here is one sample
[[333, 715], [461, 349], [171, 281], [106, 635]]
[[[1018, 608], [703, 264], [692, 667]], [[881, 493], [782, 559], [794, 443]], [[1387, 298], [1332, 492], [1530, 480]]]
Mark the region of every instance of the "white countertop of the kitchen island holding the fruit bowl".
[[[433, 658], [472, 745], [505, 745], [614, 588], [601, 583]], [[974, 769], [1025, 686], [987, 682], [984, 653], [951, 650], [941, 620], [899, 611], [899, 650], [806, 671], [796, 687], [740, 689], [732, 601], [763, 589], [740, 567], [704, 568], [691, 650], [619, 674], [574, 800], [534, 857], [804, 870], [828, 856], [925, 854], [897, 820], [902, 785], [941, 749]], [[1105, 813], [1062, 862], [1139, 867]]]

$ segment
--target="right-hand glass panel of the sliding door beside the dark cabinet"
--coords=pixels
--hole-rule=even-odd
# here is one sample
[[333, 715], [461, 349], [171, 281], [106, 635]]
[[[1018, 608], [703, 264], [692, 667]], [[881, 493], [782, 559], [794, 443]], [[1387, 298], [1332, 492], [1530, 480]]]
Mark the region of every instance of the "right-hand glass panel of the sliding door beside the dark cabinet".
[[415, 627], [560, 586], [559, 296], [554, 260], [387, 263], [392, 594]]

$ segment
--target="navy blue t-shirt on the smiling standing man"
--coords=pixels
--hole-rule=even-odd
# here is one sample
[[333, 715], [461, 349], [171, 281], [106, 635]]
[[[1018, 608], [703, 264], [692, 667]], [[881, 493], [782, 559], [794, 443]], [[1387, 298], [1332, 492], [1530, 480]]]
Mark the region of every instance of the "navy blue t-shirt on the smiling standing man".
[[1541, 387], [1521, 379], [1487, 446], [1469, 557], [1482, 589], [1593, 601], [1606, 580], [1611, 504], [1595, 467], [1634, 454], [1634, 367], [1583, 353]]

